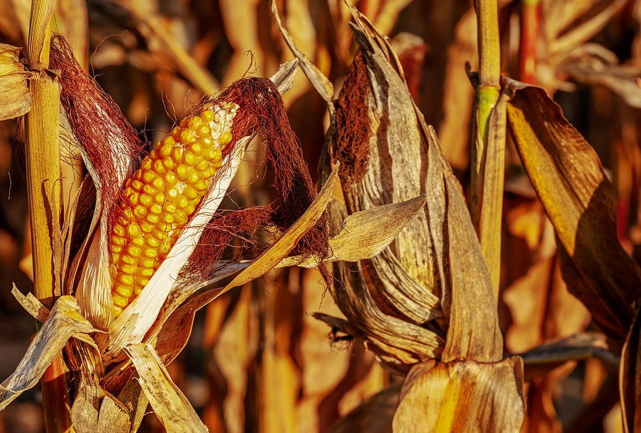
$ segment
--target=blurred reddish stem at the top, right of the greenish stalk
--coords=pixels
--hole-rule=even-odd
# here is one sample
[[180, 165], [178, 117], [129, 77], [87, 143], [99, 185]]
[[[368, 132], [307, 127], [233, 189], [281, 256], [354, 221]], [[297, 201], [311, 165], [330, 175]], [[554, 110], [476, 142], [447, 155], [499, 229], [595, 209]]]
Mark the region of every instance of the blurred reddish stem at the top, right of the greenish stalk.
[[540, 1], [522, 0], [521, 8], [518, 76], [524, 83], [536, 84]]

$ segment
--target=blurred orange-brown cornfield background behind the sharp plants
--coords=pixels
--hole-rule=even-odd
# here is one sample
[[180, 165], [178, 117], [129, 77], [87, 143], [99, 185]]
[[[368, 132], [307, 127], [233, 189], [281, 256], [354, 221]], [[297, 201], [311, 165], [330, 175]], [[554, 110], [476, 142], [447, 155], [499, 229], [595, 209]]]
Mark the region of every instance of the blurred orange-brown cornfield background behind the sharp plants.
[[[347, 6], [340, 0], [276, 4], [298, 50], [340, 89], [356, 53]], [[471, 71], [479, 70], [471, 2], [350, 4], [381, 35], [389, 35], [408, 90], [425, 122], [434, 126], [469, 198], [475, 89], [466, 62]], [[545, 89], [596, 150], [615, 187], [616, 235], [640, 262], [641, 89], [634, 78], [641, 77], [641, 1], [501, 0], [498, 6], [501, 74]], [[0, 43], [26, 47], [30, 2], [0, 0], [0, 11]], [[67, 39], [82, 67], [150, 143], [204, 96], [245, 75], [270, 77], [293, 58], [265, 0], [57, 0], [52, 17], [52, 31]], [[330, 121], [327, 103], [301, 72], [283, 99], [318, 181]], [[0, 122], [3, 378], [16, 368], [35, 332], [33, 317], [11, 295], [13, 283], [23, 292], [33, 287], [20, 128], [17, 120]], [[84, 168], [77, 150], [63, 153], [68, 203]], [[260, 167], [260, 145], [250, 147], [248, 157], [253, 163], [239, 171], [224, 208], [274, 200], [274, 180]], [[524, 356], [526, 410], [520, 431], [623, 432], [618, 371], [623, 339], [606, 337], [590, 310], [569, 293], [554, 227], [510, 133], [505, 178], [498, 296], [504, 349], [522, 354], [557, 344]], [[338, 187], [336, 195], [341, 196]], [[168, 369], [209, 431], [391, 432], [403, 372], [382, 368], [358, 339], [332, 334], [313, 317], [342, 317], [325, 289], [316, 269], [280, 268], [199, 311], [189, 343]], [[630, 378], [637, 387], [638, 380]], [[0, 412], [0, 432], [43, 432], [40, 398], [34, 388]], [[165, 430], [147, 415], [140, 431]]]

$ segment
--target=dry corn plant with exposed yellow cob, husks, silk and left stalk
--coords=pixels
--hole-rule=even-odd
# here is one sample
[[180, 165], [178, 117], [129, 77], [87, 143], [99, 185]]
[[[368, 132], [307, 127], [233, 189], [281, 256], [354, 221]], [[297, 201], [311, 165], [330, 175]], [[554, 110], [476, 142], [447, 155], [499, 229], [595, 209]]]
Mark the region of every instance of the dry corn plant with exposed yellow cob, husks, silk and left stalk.
[[[280, 96], [296, 61], [272, 79], [239, 79], [205, 99], [145, 156], [65, 40], [50, 39], [50, 11], [50, 2], [33, 4], [30, 69], [18, 62], [18, 47], [2, 47], [3, 91], [15, 96], [2, 118], [26, 115], [34, 240], [35, 296], [13, 294], [40, 329], [2, 383], [0, 407], [43, 378], [49, 432], [134, 432], [147, 403], [168, 432], [207, 431], [165, 369], [196, 310], [274, 266], [372, 257], [412, 218], [416, 200], [357, 213], [357, 227], [346, 221], [349, 230], [328, 237], [325, 208], [338, 171], [317, 195]], [[254, 135], [279, 199], [217, 213]], [[89, 171], [67, 209], [60, 140], [79, 148]], [[381, 224], [385, 236], [372, 236]], [[272, 232], [272, 244], [252, 240], [260, 228]], [[221, 262], [241, 235], [255, 259]]]

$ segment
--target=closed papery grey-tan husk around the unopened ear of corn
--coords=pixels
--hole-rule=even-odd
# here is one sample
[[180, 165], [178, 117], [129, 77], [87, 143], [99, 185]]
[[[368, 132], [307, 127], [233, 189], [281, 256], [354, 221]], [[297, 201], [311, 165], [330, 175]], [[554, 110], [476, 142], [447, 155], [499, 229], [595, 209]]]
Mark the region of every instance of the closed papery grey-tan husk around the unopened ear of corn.
[[[272, 11], [277, 15], [273, 2]], [[374, 299], [367, 296], [359, 271], [352, 274], [358, 269], [355, 265], [338, 264], [339, 267], [335, 269], [337, 274], [349, 277], [349, 283], [343, 282], [346, 291], [340, 288], [334, 291], [337, 296], [342, 296], [345, 304], [341, 305], [341, 300], [337, 300], [337, 303], [348, 320], [352, 324], [358, 324], [356, 327], [359, 336], [374, 342], [377, 354], [385, 356], [386, 363], [390, 365], [398, 367], [406, 362], [412, 364], [421, 358], [438, 356], [442, 350], [442, 339], [430, 330], [430, 326], [423, 328], [423, 331], [432, 336], [425, 336], [420, 343], [408, 338], [405, 331], [391, 337], [394, 344], [390, 344], [389, 337], [379, 339], [379, 332], [385, 334], [390, 329], [401, 326], [399, 324], [390, 328], [389, 321], [398, 320], [396, 316], [400, 318], [402, 326], [411, 327], [413, 323], [424, 324], [444, 315], [439, 325], [443, 332], [446, 329], [448, 332], [444, 354], [447, 360], [498, 360], [502, 355], [502, 339], [498, 330], [491, 281], [460, 186], [437, 148], [433, 130], [424, 125], [422, 116], [415, 111], [403, 82], [398, 59], [389, 43], [355, 9], [352, 9], [352, 16], [355, 20], [352, 31], [362, 52], [360, 64], [352, 65], [352, 89], [368, 92], [379, 89], [381, 93], [368, 94], [367, 118], [358, 118], [358, 121], [363, 122], [359, 125], [341, 123], [341, 116], [350, 119], [350, 108], [347, 108], [350, 106], [340, 105], [343, 102], [350, 103], [347, 96], [339, 96], [338, 102], [330, 103], [330, 119], [335, 122], [330, 125], [327, 140], [334, 157], [337, 155], [337, 134], [340, 137], [342, 133], [338, 130], [339, 125], [377, 131], [377, 135], [369, 135], [369, 163], [362, 166], [367, 167], [367, 171], [358, 173], [342, 169], [347, 211], [353, 213], [385, 203], [403, 201], [420, 193], [426, 194], [428, 202], [423, 213], [414, 218], [396, 238], [394, 250], [388, 249], [365, 262], [366, 272], [376, 285], [375, 299], [377, 303], [385, 305], [382, 311], [374, 303]], [[289, 34], [282, 26], [279, 27], [288, 45], [294, 47]], [[308, 74], [321, 96], [327, 100], [330, 89], [324, 83], [328, 80], [301, 52], [296, 49], [292, 51], [301, 62], [303, 72]], [[365, 71], [358, 72], [358, 68], [365, 68]], [[348, 74], [341, 95], [350, 91], [350, 84], [347, 82], [349, 77]], [[369, 85], [362, 85], [359, 81], [362, 79], [371, 82]], [[355, 147], [360, 145], [357, 142], [345, 144]], [[356, 157], [361, 156], [360, 153], [356, 154]], [[427, 174], [423, 174], [425, 172]], [[335, 212], [334, 214], [336, 215]], [[348, 271], [345, 266], [351, 270]], [[465, 269], [465, 273], [460, 269]], [[405, 281], [406, 284], [399, 284], [399, 281]], [[411, 283], [407, 283], [408, 281]], [[359, 296], [346, 293], [359, 293]], [[429, 300], [434, 296], [440, 299], [442, 312], [430, 304]], [[452, 320], [455, 323], [453, 326]], [[482, 335], [478, 332], [481, 329], [484, 330]], [[436, 346], [433, 345], [435, 343]], [[406, 352], [402, 349], [403, 344], [413, 349]], [[413, 352], [417, 349], [425, 352]], [[392, 354], [394, 352], [396, 355]]]

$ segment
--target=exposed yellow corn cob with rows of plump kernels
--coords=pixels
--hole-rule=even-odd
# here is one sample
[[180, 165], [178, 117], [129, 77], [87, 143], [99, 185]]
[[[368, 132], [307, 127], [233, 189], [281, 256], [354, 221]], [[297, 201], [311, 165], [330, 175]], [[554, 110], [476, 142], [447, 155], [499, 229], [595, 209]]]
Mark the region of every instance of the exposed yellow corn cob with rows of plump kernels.
[[235, 103], [208, 103], [182, 120], [125, 183], [111, 230], [113, 315], [140, 294], [222, 165]]

